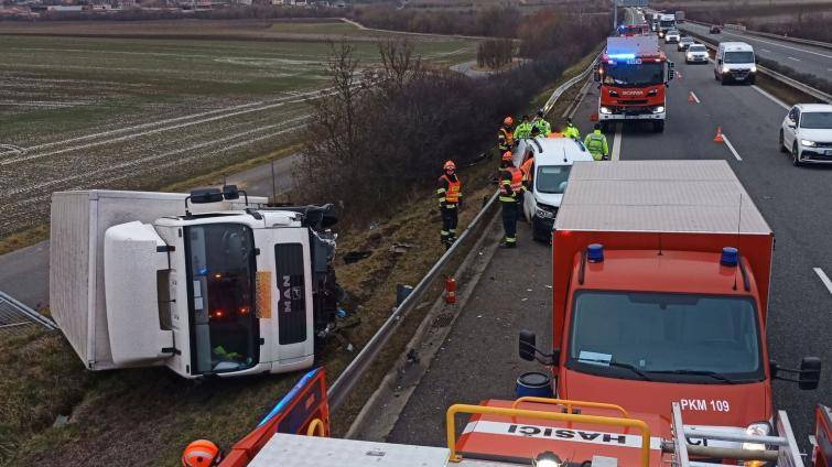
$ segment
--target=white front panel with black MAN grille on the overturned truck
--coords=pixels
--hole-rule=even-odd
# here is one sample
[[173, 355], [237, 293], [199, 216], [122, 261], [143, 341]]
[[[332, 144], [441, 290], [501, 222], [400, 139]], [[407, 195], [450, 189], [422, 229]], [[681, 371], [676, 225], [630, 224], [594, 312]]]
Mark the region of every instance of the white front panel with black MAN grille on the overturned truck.
[[[281, 367], [311, 362], [314, 319], [309, 230], [299, 227], [258, 229], [256, 239], [260, 248], [258, 281], [269, 278], [271, 282], [271, 309], [258, 313], [263, 330], [268, 326], [271, 332], [270, 336], [264, 336], [264, 347], [271, 354], [272, 372], [280, 371]], [[258, 289], [262, 286], [264, 284], [259, 284]]]

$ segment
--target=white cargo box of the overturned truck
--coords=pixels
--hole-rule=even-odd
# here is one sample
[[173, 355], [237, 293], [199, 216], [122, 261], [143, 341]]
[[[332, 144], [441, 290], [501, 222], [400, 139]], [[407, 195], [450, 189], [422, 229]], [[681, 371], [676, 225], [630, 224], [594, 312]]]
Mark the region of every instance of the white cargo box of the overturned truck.
[[[104, 239], [115, 225], [153, 222], [185, 213], [186, 194], [118, 191], [52, 194], [50, 304], [52, 316], [90, 370], [116, 368], [105, 302]], [[262, 197], [249, 197], [252, 207]], [[241, 209], [242, 199], [191, 205], [193, 213]]]

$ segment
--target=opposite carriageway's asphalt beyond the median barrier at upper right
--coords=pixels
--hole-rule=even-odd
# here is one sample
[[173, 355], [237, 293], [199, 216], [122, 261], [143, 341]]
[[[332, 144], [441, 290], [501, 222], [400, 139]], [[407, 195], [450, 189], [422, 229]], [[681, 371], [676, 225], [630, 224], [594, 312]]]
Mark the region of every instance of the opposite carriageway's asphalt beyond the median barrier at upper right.
[[681, 31], [702, 34], [714, 42], [746, 42], [754, 47], [754, 52], [758, 57], [775, 61], [797, 72], [826, 78], [832, 74], [832, 50], [830, 48], [780, 41], [774, 37], [744, 34], [739, 31], [727, 29], [723, 29], [720, 34], [709, 34], [709, 26], [691, 22], [680, 24], [679, 29]]

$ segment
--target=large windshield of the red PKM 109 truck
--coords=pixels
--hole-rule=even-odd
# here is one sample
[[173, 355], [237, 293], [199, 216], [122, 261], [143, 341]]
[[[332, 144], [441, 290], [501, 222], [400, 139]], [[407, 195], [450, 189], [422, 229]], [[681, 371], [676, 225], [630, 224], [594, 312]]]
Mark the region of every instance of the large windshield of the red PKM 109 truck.
[[650, 379], [680, 382], [718, 381], [668, 372], [713, 372], [733, 381], [764, 378], [757, 312], [749, 297], [741, 296], [581, 291], [569, 357], [569, 368], [616, 378], [645, 379], [623, 366]]

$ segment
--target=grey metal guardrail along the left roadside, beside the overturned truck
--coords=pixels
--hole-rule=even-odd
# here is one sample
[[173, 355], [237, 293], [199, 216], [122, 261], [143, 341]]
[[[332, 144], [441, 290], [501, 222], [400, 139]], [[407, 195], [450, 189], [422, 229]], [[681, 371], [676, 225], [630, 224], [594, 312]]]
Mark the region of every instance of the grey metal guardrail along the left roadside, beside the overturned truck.
[[[597, 57], [595, 58], [595, 61], [597, 61]], [[590, 66], [583, 73], [558, 86], [558, 88], [552, 91], [552, 96], [549, 98], [543, 108], [547, 113], [549, 112], [549, 110], [551, 110], [554, 102], [558, 101], [558, 99], [566, 89], [574, 86], [575, 83], [579, 83], [592, 72], [592, 67], [595, 64], [595, 61], [593, 61], [592, 64], [590, 64]], [[332, 410], [337, 409], [338, 405], [341, 405], [344, 400], [346, 400], [347, 395], [349, 395], [349, 391], [360, 380], [361, 376], [365, 373], [365, 371], [367, 371], [369, 366], [372, 365], [381, 350], [383, 350], [385, 345], [393, 335], [396, 328], [401, 323], [401, 319], [407, 316], [408, 313], [410, 313], [413, 308], [415, 308], [417, 304], [423, 298], [424, 293], [439, 278], [442, 269], [447, 265], [454, 254], [456, 254], [456, 252], [462, 249], [461, 245], [468, 237], [479, 231], [482, 225], [484, 224], [483, 218], [485, 217], [485, 214], [497, 202], [497, 195], [498, 193], [495, 193], [491, 198], [488, 199], [485, 206], [483, 206], [483, 209], [477, 213], [471, 224], [456, 239], [456, 242], [454, 242], [454, 245], [452, 245], [451, 248], [445, 251], [445, 253], [436, 261], [436, 263], [433, 264], [430, 271], [424, 274], [424, 276], [419, 281], [419, 284], [417, 284], [417, 286], [413, 287], [413, 291], [410, 292], [410, 295], [408, 295], [408, 297], [404, 298], [404, 301], [402, 301], [401, 304], [393, 309], [390, 316], [388, 316], [387, 321], [381, 325], [376, 334], [372, 335], [367, 345], [364, 346], [361, 351], [359, 351], [358, 355], [353, 359], [353, 361], [349, 362], [347, 368], [344, 369], [344, 371], [338, 376], [335, 382], [329, 385], [326, 394], [329, 401], [329, 408]]]

